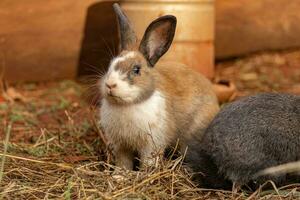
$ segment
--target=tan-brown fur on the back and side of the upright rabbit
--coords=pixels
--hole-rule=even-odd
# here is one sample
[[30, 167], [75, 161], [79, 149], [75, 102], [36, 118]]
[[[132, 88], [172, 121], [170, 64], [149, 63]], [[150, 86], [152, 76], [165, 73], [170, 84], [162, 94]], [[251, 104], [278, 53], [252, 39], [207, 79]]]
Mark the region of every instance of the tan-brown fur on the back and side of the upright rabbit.
[[[180, 139], [184, 151], [187, 141], [201, 137], [219, 111], [212, 85], [201, 74], [178, 63], [161, 63], [155, 67], [156, 90], [167, 100], [169, 134]], [[173, 139], [176, 143], [176, 140]]]

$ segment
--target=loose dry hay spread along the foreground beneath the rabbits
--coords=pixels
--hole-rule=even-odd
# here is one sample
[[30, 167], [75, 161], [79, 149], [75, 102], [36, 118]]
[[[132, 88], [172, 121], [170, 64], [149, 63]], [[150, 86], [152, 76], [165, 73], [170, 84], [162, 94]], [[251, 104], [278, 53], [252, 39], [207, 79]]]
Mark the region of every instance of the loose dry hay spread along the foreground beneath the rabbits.
[[[4, 199], [281, 199], [299, 198], [300, 185], [254, 193], [195, 187], [181, 159], [162, 161], [155, 169], [129, 172], [96, 158], [59, 162], [59, 155], [36, 158], [30, 147], [9, 144], [1, 174]], [[2, 152], [3, 149], [1, 149]], [[3, 156], [3, 154], [1, 154]], [[2, 157], [3, 158], [3, 157]], [[80, 159], [78, 159], [80, 160]], [[2, 162], [3, 163], [3, 162]]]

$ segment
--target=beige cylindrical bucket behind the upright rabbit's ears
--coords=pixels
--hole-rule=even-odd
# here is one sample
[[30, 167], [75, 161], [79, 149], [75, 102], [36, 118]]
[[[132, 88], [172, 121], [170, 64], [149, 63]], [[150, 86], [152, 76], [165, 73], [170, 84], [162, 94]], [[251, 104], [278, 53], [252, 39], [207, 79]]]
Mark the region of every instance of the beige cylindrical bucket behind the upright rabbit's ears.
[[159, 16], [177, 17], [177, 30], [164, 60], [182, 62], [205, 76], [214, 75], [214, 0], [122, 0], [138, 39]]

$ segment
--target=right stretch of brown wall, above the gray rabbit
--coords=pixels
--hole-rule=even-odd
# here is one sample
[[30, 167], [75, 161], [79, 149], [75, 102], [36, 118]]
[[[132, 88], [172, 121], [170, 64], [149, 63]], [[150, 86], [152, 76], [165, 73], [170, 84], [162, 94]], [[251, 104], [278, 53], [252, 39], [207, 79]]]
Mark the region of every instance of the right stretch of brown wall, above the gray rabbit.
[[216, 0], [216, 57], [300, 46], [299, 0]]

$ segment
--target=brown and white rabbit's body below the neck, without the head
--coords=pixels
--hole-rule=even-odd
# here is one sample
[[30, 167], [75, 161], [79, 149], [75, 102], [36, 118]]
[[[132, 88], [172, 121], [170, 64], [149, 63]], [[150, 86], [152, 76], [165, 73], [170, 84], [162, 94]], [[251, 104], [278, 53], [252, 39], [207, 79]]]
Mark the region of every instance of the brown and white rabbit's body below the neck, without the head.
[[[153, 70], [157, 87], [149, 98], [126, 106], [102, 101], [101, 125], [116, 151], [126, 152], [128, 162], [137, 151], [152, 164], [153, 159], [143, 157], [177, 139], [184, 151], [186, 141], [200, 134], [219, 110], [209, 81], [197, 72], [178, 63], [162, 63]], [[132, 168], [131, 162], [127, 167]]]

